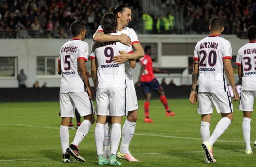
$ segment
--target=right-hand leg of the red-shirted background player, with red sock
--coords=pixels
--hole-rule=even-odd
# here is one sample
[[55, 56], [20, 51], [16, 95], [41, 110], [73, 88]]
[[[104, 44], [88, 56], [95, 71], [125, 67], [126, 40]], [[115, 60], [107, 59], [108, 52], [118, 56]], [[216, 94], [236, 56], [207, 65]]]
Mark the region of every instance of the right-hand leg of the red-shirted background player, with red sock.
[[168, 105], [168, 101], [165, 97], [165, 94], [164, 94], [164, 90], [163, 88], [160, 86], [159, 82], [157, 81], [157, 79], [153, 79], [153, 82], [151, 83], [151, 89], [153, 89], [159, 96], [161, 102], [163, 103], [164, 105], [164, 108], [166, 110], [166, 116], [175, 116], [175, 113], [172, 112], [170, 109], [169, 109], [169, 105]]

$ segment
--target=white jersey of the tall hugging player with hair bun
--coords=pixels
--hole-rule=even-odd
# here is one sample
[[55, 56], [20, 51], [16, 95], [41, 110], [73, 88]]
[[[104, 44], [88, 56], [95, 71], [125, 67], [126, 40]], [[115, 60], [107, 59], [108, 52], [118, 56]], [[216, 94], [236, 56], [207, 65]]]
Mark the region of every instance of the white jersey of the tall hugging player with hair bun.
[[[97, 31], [103, 31], [101, 25], [98, 27]], [[124, 27], [124, 29], [122, 31], [118, 31], [118, 33], [119, 34], [126, 34], [128, 37], [130, 37], [132, 44], [140, 42], [136, 32], [132, 28]], [[127, 77], [129, 79], [132, 79], [131, 67], [128, 64], [128, 62], [125, 63], [125, 72], [126, 72]]]

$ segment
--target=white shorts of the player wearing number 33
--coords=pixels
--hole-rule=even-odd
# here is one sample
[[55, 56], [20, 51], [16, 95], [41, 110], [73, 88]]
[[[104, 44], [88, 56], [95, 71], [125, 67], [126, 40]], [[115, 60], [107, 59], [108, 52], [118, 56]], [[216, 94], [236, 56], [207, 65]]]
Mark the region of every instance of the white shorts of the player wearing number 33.
[[254, 98], [256, 98], [256, 91], [242, 90], [238, 110], [253, 111]]

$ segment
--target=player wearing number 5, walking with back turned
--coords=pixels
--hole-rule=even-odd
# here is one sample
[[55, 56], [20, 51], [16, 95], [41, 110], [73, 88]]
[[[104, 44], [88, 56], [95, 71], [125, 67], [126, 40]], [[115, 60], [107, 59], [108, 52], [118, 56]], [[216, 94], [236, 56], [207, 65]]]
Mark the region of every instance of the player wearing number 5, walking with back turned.
[[[70, 162], [70, 154], [76, 160], [84, 162], [80, 156], [78, 145], [88, 133], [95, 121], [92, 104], [92, 89], [87, 77], [85, 63], [88, 59], [88, 44], [84, 42], [85, 24], [75, 21], [71, 24], [73, 38], [66, 42], [60, 49], [58, 59], [58, 74], [61, 75], [60, 83], [60, 142], [63, 153], [63, 162]], [[77, 108], [80, 116], [84, 117], [83, 123], [77, 129], [73, 142], [69, 145], [68, 126], [71, 117], [74, 118], [73, 106]]]

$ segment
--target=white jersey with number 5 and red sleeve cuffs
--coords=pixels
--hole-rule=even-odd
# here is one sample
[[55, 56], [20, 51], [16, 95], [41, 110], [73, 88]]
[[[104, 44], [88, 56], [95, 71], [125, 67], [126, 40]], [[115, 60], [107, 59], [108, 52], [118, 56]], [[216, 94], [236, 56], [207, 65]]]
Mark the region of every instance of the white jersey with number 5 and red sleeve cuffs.
[[86, 86], [78, 71], [78, 59], [88, 59], [88, 43], [79, 39], [71, 39], [60, 49], [59, 59], [61, 65], [60, 93], [84, 92]]

